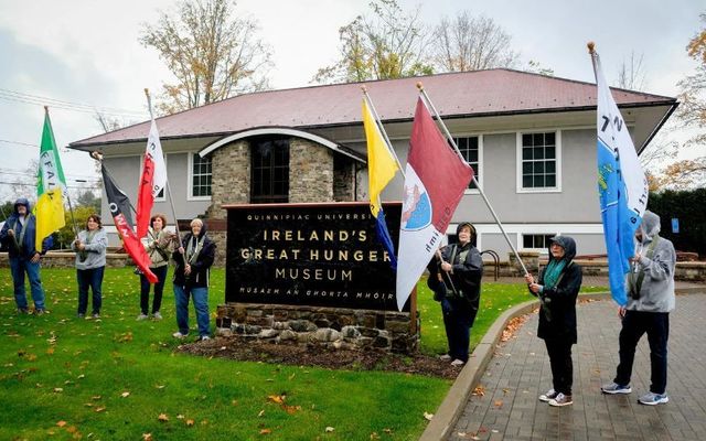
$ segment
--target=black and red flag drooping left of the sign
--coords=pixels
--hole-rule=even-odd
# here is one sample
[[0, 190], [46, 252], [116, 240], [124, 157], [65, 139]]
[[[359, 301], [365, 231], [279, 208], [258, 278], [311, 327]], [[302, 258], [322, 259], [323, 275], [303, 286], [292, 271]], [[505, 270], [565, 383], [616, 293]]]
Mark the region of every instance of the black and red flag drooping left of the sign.
[[132, 218], [130, 217], [130, 200], [128, 196], [113, 182], [105, 165], [100, 164], [103, 173], [103, 185], [108, 196], [108, 209], [115, 222], [115, 227], [122, 239], [122, 246], [128, 255], [132, 258], [135, 265], [138, 266], [147, 277], [150, 283], [157, 283], [157, 276], [150, 270], [150, 257], [145, 251], [142, 243], [132, 230]]

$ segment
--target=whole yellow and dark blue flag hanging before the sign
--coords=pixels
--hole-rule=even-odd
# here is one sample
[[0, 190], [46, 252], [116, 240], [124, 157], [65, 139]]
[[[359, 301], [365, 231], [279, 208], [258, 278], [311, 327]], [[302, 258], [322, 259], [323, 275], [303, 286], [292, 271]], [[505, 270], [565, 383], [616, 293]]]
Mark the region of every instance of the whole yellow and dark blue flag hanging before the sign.
[[387, 230], [387, 223], [385, 222], [385, 213], [383, 212], [379, 195], [387, 183], [395, 178], [395, 173], [397, 173], [399, 168], [389, 151], [389, 147], [383, 139], [383, 135], [375, 122], [371, 109], [367, 107], [365, 98], [363, 98], [363, 127], [365, 128], [365, 138], [367, 140], [367, 181], [371, 197], [371, 213], [373, 213], [375, 217], [377, 239], [387, 250], [389, 265], [393, 269], [397, 269], [395, 246]]

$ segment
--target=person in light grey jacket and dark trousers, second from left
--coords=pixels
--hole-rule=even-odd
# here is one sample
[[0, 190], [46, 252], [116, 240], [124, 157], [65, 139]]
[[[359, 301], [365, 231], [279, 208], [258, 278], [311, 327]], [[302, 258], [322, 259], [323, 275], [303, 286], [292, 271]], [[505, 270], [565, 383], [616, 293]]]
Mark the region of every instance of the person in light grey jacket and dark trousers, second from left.
[[[78, 233], [78, 237], [71, 244], [76, 251], [76, 278], [78, 280], [78, 318], [100, 318], [103, 304], [103, 275], [106, 269], [106, 249], [108, 237], [100, 216], [92, 214], [86, 219], [86, 229]], [[92, 313], [88, 310], [88, 287], [93, 293]]]

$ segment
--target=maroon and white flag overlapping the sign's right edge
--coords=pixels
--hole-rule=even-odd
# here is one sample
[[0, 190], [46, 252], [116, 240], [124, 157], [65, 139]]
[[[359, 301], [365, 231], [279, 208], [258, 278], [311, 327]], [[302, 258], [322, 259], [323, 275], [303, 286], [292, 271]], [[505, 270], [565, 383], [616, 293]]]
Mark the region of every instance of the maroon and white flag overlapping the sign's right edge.
[[450, 148], [421, 97], [411, 127], [405, 175], [397, 256], [399, 311], [439, 248], [473, 178], [473, 169]]

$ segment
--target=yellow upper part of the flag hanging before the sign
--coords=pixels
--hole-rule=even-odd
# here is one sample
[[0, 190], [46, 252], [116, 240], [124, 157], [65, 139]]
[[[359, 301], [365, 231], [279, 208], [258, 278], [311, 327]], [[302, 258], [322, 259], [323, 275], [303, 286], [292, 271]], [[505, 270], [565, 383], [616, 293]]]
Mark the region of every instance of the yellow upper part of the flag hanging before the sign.
[[365, 99], [363, 99], [363, 126], [365, 128], [365, 138], [367, 139], [367, 181], [371, 212], [373, 216], [377, 217], [377, 213], [381, 209], [379, 194], [387, 183], [395, 178], [395, 173], [399, 168], [387, 149], [387, 144]]

